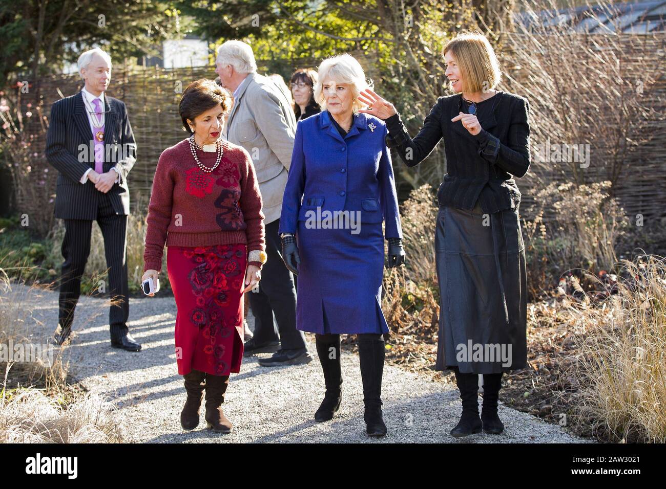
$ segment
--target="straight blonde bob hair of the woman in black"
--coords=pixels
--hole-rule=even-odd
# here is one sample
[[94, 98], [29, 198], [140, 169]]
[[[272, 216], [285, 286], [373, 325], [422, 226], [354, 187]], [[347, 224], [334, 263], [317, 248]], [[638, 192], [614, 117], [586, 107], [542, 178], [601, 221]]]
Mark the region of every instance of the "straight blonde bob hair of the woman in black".
[[442, 57], [449, 51], [460, 67], [464, 92], [487, 92], [500, 82], [500, 63], [483, 34], [460, 33], [446, 43]]

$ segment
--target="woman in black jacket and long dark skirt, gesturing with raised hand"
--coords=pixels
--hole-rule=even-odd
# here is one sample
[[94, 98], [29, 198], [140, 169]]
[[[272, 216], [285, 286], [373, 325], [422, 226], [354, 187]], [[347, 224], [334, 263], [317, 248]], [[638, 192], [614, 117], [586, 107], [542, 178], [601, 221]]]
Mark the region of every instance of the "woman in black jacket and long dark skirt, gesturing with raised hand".
[[[444, 138], [448, 173], [438, 191], [436, 265], [440, 329], [436, 370], [453, 369], [462, 399], [453, 436], [500, 433], [501, 375], [527, 366], [525, 248], [512, 176], [529, 168], [529, 104], [495, 90], [501, 72], [486, 37], [465, 33], [443, 50], [454, 95], [442, 96], [410, 138], [393, 104], [362, 93], [368, 112], [386, 120], [388, 139], [407, 166]], [[478, 412], [478, 374], [484, 403]]]

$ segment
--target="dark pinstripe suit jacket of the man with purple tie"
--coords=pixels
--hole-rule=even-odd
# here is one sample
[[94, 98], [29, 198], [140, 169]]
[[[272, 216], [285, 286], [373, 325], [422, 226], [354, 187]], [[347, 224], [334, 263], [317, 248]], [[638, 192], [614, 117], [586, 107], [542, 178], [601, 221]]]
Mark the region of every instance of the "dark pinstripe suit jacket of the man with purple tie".
[[[107, 195], [116, 214], [129, 214], [127, 174], [137, 158], [137, 145], [127, 116], [125, 102], [105, 96], [105, 162], [103, 170], [115, 166], [120, 183], [113, 184]], [[46, 140], [47, 161], [58, 170], [56, 218], [95, 220], [102, 192], [91, 180], [79, 180], [88, 168], [95, 168], [93, 134], [85, 112], [81, 92], [58, 100], [51, 107]]]

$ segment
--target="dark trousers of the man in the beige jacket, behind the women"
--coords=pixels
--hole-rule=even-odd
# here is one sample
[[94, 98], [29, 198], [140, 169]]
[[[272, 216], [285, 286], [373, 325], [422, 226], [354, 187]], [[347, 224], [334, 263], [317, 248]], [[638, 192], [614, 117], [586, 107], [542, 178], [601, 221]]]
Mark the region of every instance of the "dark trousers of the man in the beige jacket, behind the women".
[[[294, 277], [282, 261], [280, 220], [266, 224], [266, 255], [258, 292], [248, 292], [254, 314], [254, 341], [280, 341], [283, 350], [305, 348], [305, 335], [296, 329]], [[278, 331], [280, 335], [278, 336]]]

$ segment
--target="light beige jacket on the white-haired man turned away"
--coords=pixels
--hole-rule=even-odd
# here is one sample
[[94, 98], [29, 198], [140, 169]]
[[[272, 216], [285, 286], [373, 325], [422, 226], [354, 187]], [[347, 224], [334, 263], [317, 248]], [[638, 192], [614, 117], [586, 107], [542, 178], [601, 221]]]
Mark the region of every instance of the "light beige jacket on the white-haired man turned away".
[[250, 73], [226, 120], [226, 138], [250, 154], [268, 224], [280, 218], [282, 195], [294, 149], [296, 117], [284, 93], [269, 78]]

